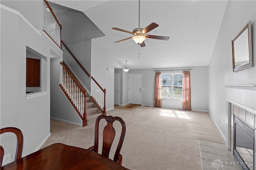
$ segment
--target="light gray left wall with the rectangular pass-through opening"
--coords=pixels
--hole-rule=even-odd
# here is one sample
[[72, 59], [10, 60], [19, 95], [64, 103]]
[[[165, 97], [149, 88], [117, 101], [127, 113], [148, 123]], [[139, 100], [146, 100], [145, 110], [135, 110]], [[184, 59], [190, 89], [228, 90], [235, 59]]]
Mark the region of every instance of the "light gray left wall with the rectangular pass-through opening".
[[[42, 14], [42, 6], [30, 5]], [[32, 29], [19, 12], [1, 5], [1, 128], [17, 127], [24, 136], [22, 156], [39, 149], [50, 135], [50, 51], [62, 51], [42, 33]], [[26, 100], [26, 47], [46, 57], [46, 93]], [[44, 77], [44, 76], [43, 76]], [[10, 141], [1, 138], [5, 154], [12, 152]], [[14, 155], [14, 154], [12, 154]]]

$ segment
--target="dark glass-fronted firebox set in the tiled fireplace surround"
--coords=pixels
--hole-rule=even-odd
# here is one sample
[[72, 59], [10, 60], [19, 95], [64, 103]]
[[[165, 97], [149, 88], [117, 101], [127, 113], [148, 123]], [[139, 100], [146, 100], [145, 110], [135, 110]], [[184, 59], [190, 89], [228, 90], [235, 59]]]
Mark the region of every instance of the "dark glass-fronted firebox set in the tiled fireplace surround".
[[243, 170], [254, 170], [254, 128], [234, 115], [234, 156]]

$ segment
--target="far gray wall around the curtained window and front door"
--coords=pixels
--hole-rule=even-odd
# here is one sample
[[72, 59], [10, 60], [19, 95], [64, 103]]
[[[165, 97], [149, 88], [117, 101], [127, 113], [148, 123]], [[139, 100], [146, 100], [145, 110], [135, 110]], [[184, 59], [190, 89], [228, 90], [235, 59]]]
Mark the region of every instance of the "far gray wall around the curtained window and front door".
[[[142, 88], [144, 88], [142, 105], [154, 106], [155, 71], [153, 69], [129, 70], [128, 74], [142, 74]], [[190, 84], [192, 110], [208, 111], [208, 66], [193, 67], [190, 71]], [[182, 100], [162, 99], [162, 107], [181, 109]]]

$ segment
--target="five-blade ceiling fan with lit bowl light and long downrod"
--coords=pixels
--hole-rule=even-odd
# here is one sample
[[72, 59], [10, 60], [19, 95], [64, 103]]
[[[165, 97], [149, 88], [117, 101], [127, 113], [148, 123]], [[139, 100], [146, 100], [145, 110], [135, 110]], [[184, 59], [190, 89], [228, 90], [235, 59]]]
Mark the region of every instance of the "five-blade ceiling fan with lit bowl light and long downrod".
[[140, 45], [140, 47], [145, 47], [146, 44], [144, 42], [144, 40], [146, 38], [152, 38], [152, 39], [160, 39], [160, 40], [165, 40], [167, 41], [170, 37], [165, 37], [165, 36], [158, 36], [158, 35], [147, 35], [146, 33], [148, 33], [149, 31], [151, 31], [152, 29], [155, 29], [156, 27], [158, 27], [159, 25], [157, 23], [150, 23], [146, 28], [140, 28], [140, 0], [139, 0], [139, 27], [135, 28], [132, 32], [130, 31], [126, 31], [124, 29], [120, 29], [120, 28], [116, 28], [113, 27], [112, 29], [118, 30], [118, 31], [122, 31], [122, 32], [126, 32], [126, 33], [130, 33], [132, 35], [134, 35], [133, 37], [129, 37], [129, 38], [125, 38], [125, 39], [121, 39], [119, 41], [116, 41], [115, 43], [119, 43], [121, 41], [125, 41], [127, 39], [133, 39], [137, 44]]

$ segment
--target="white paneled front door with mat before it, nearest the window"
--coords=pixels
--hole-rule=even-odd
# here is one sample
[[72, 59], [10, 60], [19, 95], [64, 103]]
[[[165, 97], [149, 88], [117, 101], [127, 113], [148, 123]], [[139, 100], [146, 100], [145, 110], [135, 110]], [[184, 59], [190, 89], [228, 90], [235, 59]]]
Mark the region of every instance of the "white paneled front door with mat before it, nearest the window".
[[129, 74], [129, 104], [141, 104], [142, 74]]

